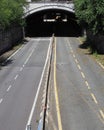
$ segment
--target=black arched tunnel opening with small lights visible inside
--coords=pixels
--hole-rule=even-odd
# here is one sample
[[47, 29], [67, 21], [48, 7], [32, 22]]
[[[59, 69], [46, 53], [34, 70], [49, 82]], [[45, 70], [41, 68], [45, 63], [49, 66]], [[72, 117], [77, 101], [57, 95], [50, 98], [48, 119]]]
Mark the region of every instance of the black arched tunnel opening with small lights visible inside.
[[25, 33], [29, 37], [74, 37], [81, 35], [75, 15], [62, 10], [45, 10], [26, 18]]

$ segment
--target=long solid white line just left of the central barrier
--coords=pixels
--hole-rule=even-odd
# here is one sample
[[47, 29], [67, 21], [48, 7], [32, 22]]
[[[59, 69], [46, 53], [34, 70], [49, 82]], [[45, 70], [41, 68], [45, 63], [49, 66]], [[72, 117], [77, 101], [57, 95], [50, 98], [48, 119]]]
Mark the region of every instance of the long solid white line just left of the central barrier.
[[34, 110], [35, 110], [35, 107], [36, 107], [36, 102], [37, 102], [39, 91], [40, 91], [40, 88], [41, 88], [44, 72], [45, 72], [45, 69], [46, 69], [46, 65], [48, 63], [48, 57], [49, 57], [49, 54], [50, 54], [50, 49], [51, 49], [51, 41], [50, 41], [50, 44], [49, 44], [49, 47], [48, 47], [47, 57], [46, 57], [46, 60], [45, 60], [45, 64], [44, 64], [41, 79], [40, 79], [40, 82], [39, 82], [39, 85], [38, 85], [38, 89], [37, 89], [37, 92], [36, 92], [36, 96], [34, 98], [33, 106], [32, 106], [32, 109], [31, 109], [31, 112], [30, 112], [30, 115], [29, 115], [29, 119], [28, 119], [28, 122], [27, 122], [27, 125], [26, 125], [26, 130], [27, 130], [27, 126], [31, 125], [31, 120], [32, 120], [33, 113], [34, 113]]

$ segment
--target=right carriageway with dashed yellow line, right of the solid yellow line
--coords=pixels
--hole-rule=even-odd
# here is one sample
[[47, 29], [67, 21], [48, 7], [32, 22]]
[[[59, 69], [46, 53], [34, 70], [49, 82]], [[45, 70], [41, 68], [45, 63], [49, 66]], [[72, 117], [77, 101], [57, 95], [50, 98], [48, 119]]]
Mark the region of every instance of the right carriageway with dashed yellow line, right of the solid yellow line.
[[[75, 38], [57, 38], [56, 45], [57, 87], [63, 130], [103, 130], [104, 96], [103, 92], [98, 91], [96, 82], [99, 82], [100, 88], [104, 86], [101, 81], [104, 72], [101, 79], [97, 78], [100, 68], [90, 57], [78, 53]], [[92, 91], [86, 85], [92, 87]], [[101, 103], [98, 105], [99, 101]]]

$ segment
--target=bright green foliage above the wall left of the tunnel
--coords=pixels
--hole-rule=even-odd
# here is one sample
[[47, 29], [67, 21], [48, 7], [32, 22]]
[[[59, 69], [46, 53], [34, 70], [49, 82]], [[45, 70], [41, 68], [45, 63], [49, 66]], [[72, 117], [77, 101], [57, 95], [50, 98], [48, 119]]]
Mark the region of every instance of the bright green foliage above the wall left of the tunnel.
[[22, 24], [25, 0], [0, 0], [0, 27], [6, 28], [12, 23]]

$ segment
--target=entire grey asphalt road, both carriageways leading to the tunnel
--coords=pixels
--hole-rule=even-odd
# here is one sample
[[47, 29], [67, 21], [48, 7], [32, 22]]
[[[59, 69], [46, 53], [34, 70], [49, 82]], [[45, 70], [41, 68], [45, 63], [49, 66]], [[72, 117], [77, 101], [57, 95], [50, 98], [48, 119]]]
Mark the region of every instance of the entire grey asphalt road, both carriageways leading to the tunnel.
[[[54, 39], [46, 130], [104, 130], [104, 70], [77, 38]], [[31, 38], [0, 70], [0, 129], [38, 129], [51, 38]]]

